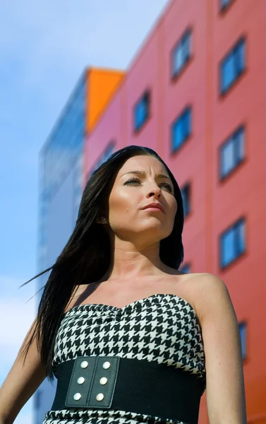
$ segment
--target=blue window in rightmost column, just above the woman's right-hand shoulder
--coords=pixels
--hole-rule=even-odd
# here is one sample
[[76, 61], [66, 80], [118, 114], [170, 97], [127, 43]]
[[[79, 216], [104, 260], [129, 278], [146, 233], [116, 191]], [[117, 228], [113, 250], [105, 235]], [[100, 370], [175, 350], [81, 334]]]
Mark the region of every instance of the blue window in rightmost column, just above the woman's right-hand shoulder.
[[246, 225], [242, 218], [226, 230], [220, 238], [220, 266], [225, 268], [246, 250]]

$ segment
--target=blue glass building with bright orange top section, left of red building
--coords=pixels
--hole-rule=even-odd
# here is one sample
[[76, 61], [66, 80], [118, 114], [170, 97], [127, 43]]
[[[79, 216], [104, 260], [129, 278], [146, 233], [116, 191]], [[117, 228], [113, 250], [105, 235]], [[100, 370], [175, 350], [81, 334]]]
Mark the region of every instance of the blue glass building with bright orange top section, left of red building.
[[[54, 264], [73, 232], [83, 189], [85, 139], [122, 78], [121, 71], [86, 69], [40, 152], [40, 272]], [[39, 278], [39, 289], [48, 276]], [[50, 384], [48, 379], [37, 389], [35, 424], [42, 423], [55, 390], [56, 382]]]

